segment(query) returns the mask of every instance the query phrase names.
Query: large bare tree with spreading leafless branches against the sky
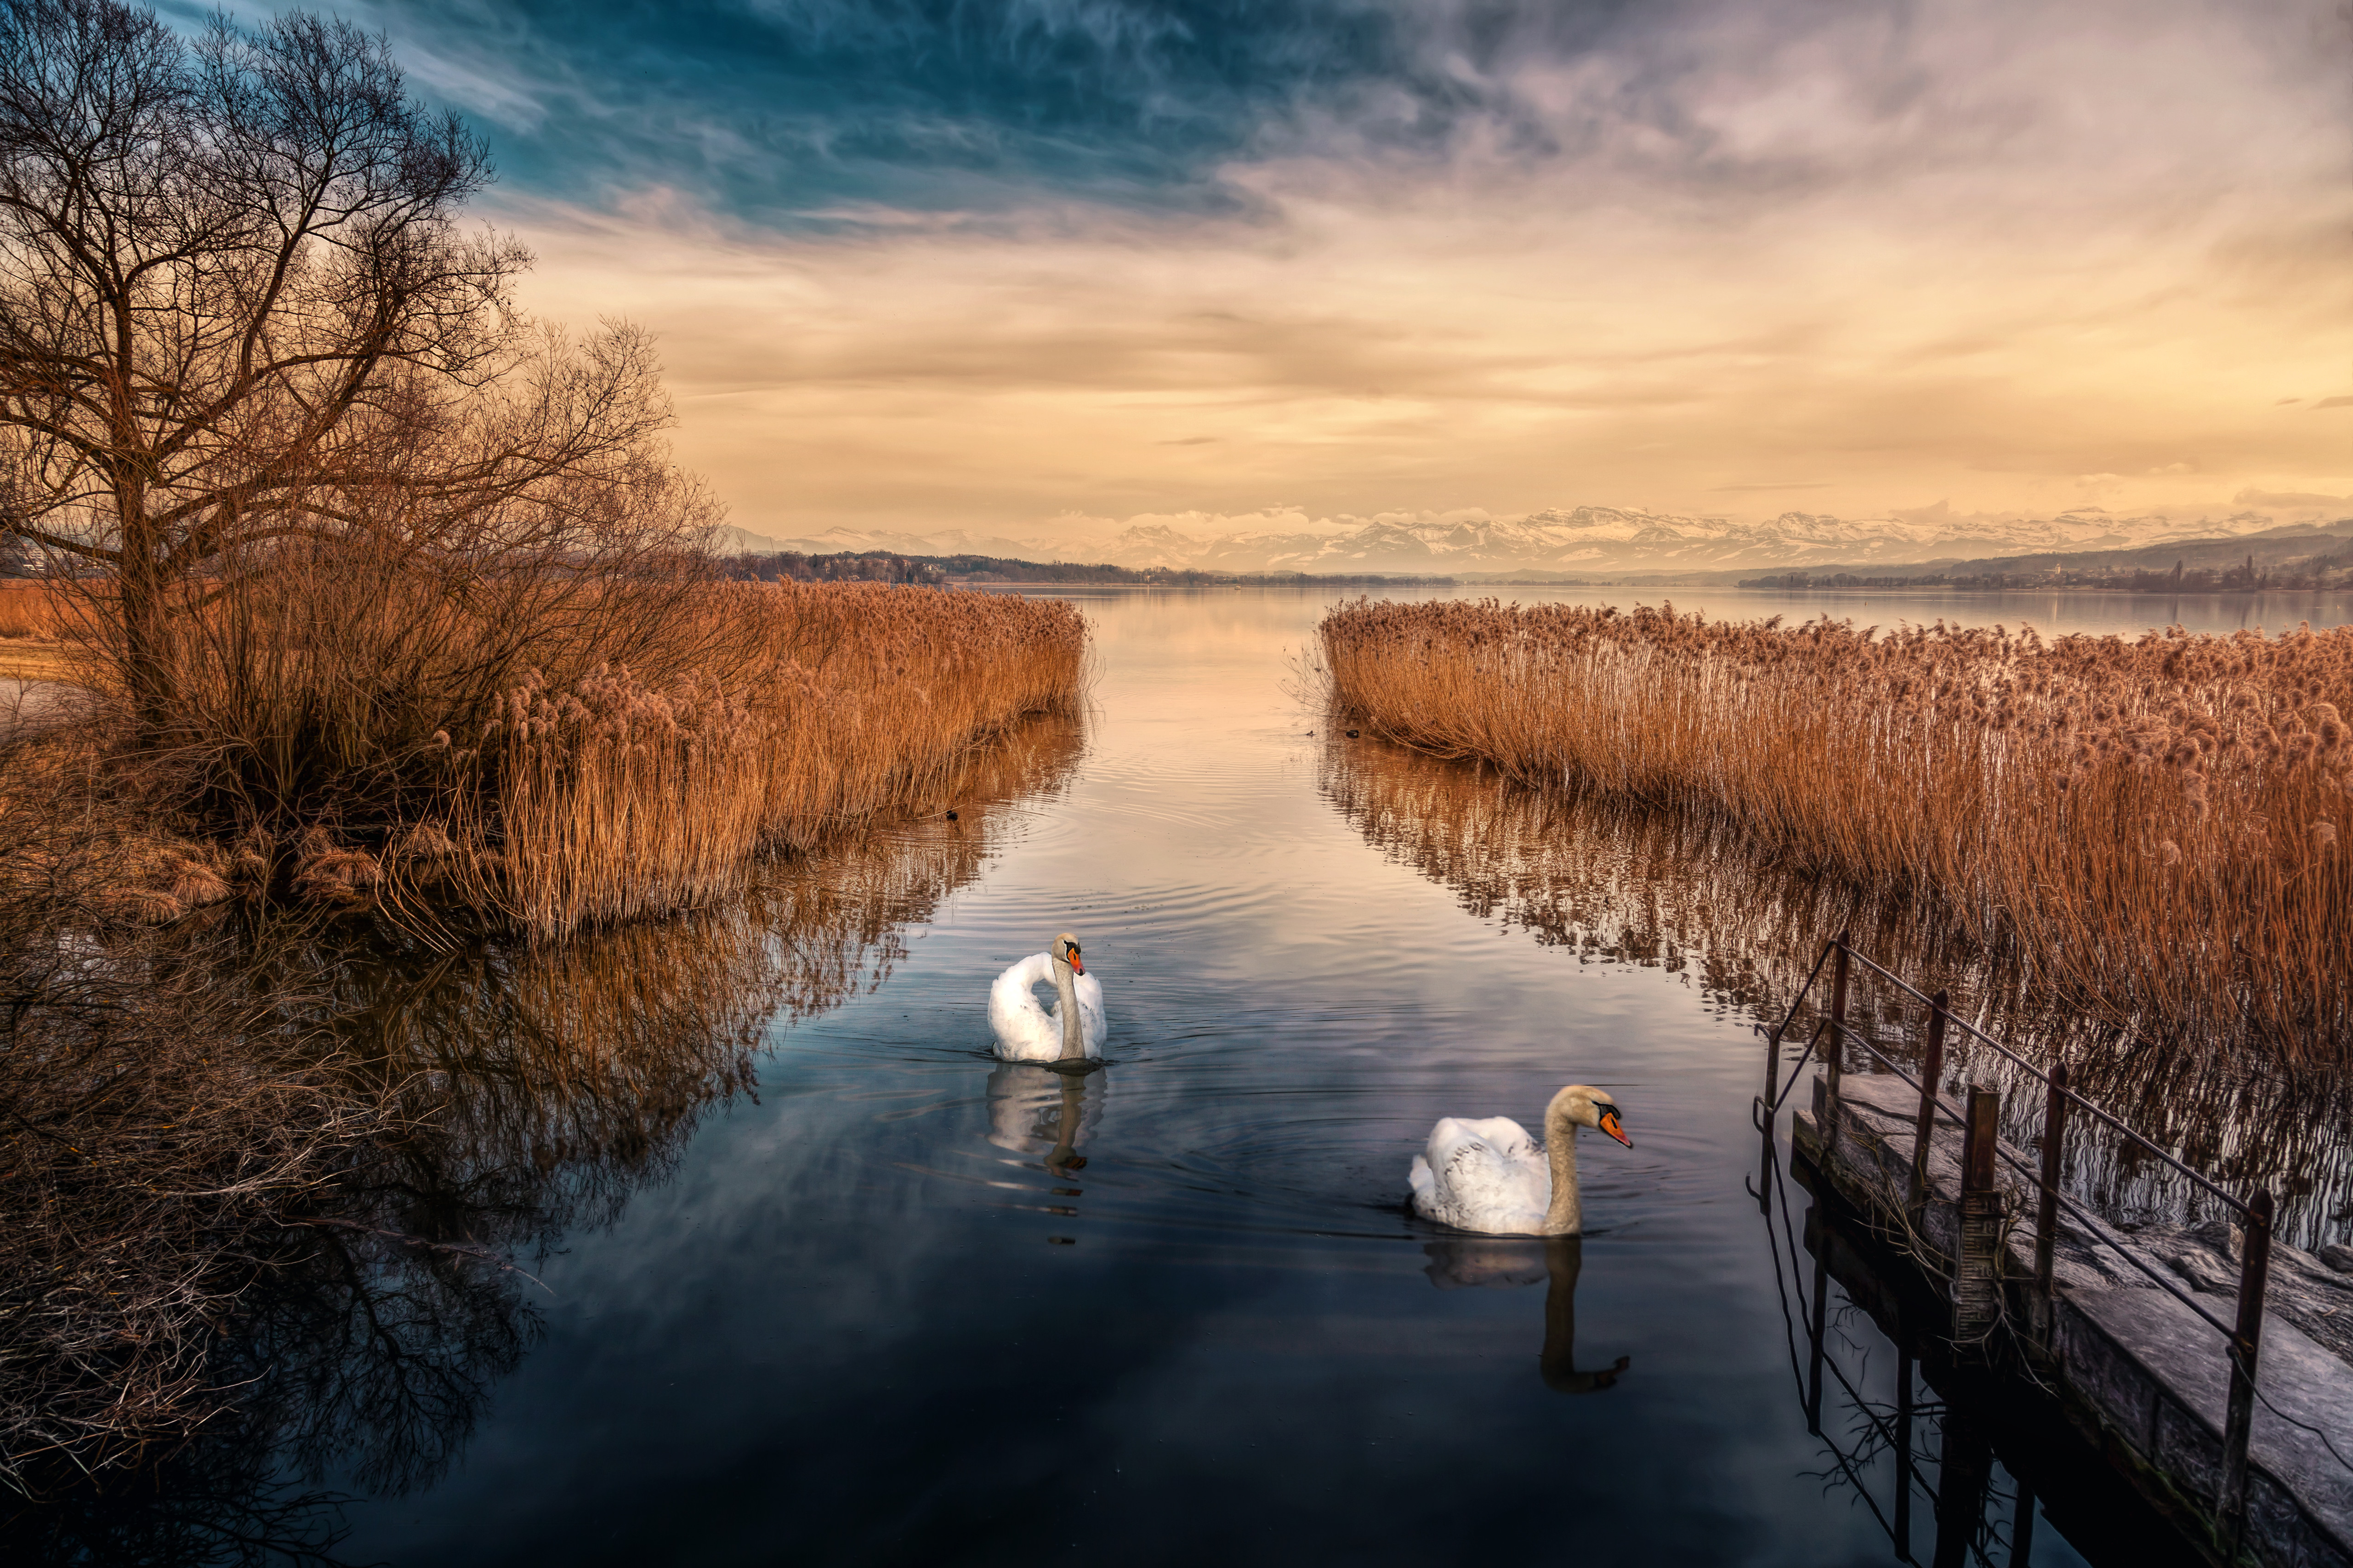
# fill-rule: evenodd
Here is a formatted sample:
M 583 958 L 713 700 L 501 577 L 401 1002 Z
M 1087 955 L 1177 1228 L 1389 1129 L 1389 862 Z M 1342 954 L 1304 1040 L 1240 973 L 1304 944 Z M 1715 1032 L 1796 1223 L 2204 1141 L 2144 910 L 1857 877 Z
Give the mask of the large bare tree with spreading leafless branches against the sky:
M 384 38 L 289 12 L 184 40 L 115 0 L 0 16 L 0 534 L 101 585 L 151 736 L 167 621 L 273 541 L 544 555 L 701 522 L 649 447 L 649 346 L 520 317 L 527 252 L 456 221 L 487 153 Z

